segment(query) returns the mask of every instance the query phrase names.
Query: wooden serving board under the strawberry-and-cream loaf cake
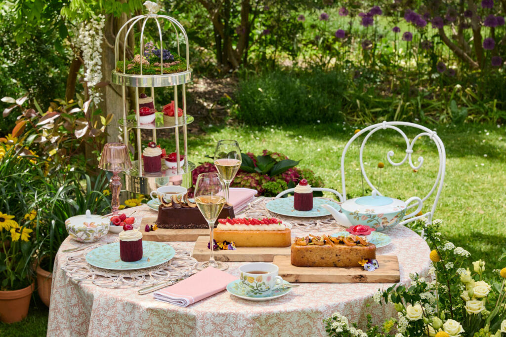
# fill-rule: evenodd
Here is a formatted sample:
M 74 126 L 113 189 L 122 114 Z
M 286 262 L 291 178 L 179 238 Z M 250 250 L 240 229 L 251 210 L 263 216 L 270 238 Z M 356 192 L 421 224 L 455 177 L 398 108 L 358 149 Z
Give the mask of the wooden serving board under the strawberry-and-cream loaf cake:
M 197 261 L 209 260 L 209 236 L 199 236 L 192 256 Z M 288 247 L 237 247 L 235 251 L 215 251 L 214 257 L 217 261 L 236 261 L 236 262 L 272 262 L 275 255 L 287 255 L 290 260 L 291 248 Z

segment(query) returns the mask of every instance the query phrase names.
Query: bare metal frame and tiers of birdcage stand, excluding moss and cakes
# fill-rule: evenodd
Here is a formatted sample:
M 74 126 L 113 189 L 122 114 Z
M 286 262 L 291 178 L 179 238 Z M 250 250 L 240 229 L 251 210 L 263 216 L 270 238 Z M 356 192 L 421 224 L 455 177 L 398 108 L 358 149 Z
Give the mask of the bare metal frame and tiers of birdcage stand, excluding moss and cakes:
M 126 62 L 123 62 L 122 69 L 118 69 L 117 64 L 118 61 L 125 60 L 126 58 L 126 45 L 128 44 L 129 36 L 140 36 L 139 44 L 136 45 L 135 51 L 140 55 L 144 55 L 144 43 L 145 43 L 145 32 L 144 29 L 147 23 L 155 23 L 159 35 L 159 48 L 163 50 L 164 44 L 162 39 L 161 27 L 171 26 L 176 35 L 177 41 L 177 52 L 180 54 L 180 37 L 184 39 L 184 43 L 186 44 L 186 70 L 178 73 L 166 74 L 163 73 L 163 68 L 160 67 L 160 74 L 157 75 L 144 75 L 143 74 L 143 65 L 140 63 L 140 73 L 139 75 L 127 74 L 126 73 Z M 160 25 L 161 23 L 161 25 Z M 142 27 L 140 34 L 139 32 L 135 32 L 135 27 Z M 153 36 L 156 38 L 156 36 Z M 158 42 L 158 41 L 157 41 Z M 120 44 L 122 47 L 120 48 Z M 129 147 L 129 137 L 128 132 L 129 129 L 135 130 L 137 132 L 137 146 L 134 147 L 133 155 L 134 160 L 132 162 L 133 168 L 125 171 L 125 188 L 134 193 L 147 195 L 150 194 L 152 190 L 156 190 L 156 188 L 164 185 L 182 185 L 184 187 L 189 188 L 191 186 L 191 171 L 195 168 L 195 164 L 188 161 L 188 145 L 187 145 L 187 125 L 193 122 L 194 118 L 190 115 L 186 114 L 186 83 L 192 81 L 192 69 L 189 65 L 189 53 L 188 53 L 188 36 L 186 34 L 183 26 L 174 18 L 158 15 L 150 11 L 147 15 L 139 15 L 136 16 L 129 21 L 127 21 L 120 29 L 118 34 L 116 35 L 115 40 L 115 69 L 112 71 L 112 82 L 114 84 L 121 85 L 121 95 L 123 102 L 123 118 L 119 120 L 119 125 L 123 127 L 123 138 L 125 145 L 128 149 Z M 121 53 L 122 52 L 122 53 Z M 136 53 L 137 54 L 137 53 Z M 122 58 L 120 59 L 120 57 Z M 162 60 L 163 53 L 160 53 L 160 63 L 163 64 Z M 182 110 L 183 117 L 182 122 L 178 123 L 178 118 L 175 118 L 174 122 L 170 122 L 164 120 L 163 123 L 150 123 L 150 124 L 141 124 L 139 122 L 139 88 L 145 88 L 146 93 L 150 91 L 151 98 L 153 99 L 153 104 L 156 104 L 155 100 L 155 88 L 161 87 L 173 87 L 174 90 L 174 105 L 175 105 L 175 116 L 178 114 L 178 107 L 180 106 L 180 100 L 178 98 L 178 91 L 181 90 L 182 97 Z M 128 106 L 128 90 L 126 87 L 135 88 L 135 104 L 133 105 L 133 109 L 135 113 L 129 114 L 129 106 Z M 142 90 L 141 90 L 142 91 Z M 163 102 L 160 102 L 163 104 Z M 155 106 L 156 107 L 156 106 Z M 149 173 L 145 172 L 143 169 L 142 162 L 142 146 L 141 146 L 141 130 L 142 129 L 150 129 L 152 130 L 152 141 L 157 143 L 156 139 L 156 131 L 159 129 L 174 129 L 175 133 L 175 152 L 177 154 L 176 158 L 180 158 L 181 148 L 180 148 L 180 133 L 183 131 L 183 154 L 185 158 L 185 162 L 183 165 L 180 165 L 179 160 L 176 161 L 177 168 L 171 169 L 165 165 L 165 160 L 162 159 L 162 168 L 160 172 Z M 167 153 L 172 152 L 167 149 Z

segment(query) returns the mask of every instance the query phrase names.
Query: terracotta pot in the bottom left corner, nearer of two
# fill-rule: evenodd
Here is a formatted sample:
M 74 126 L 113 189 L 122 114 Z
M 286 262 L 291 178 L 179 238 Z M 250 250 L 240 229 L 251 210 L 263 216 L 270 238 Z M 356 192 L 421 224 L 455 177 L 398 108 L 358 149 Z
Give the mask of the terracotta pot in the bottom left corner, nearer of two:
M 0 292 L 0 321 L 19 322 L 28 315 L 34 283 L 20 290 Z

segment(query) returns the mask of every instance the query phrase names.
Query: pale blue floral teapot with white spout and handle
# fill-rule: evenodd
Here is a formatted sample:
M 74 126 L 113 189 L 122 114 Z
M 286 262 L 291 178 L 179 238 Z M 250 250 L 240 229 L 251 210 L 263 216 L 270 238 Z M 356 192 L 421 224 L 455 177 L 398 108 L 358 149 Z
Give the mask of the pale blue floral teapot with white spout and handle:
M 406 215 L 407 205 L 416 201 L 418 207 L 412 213 Z M 384 231 L 399 224 L 402 219 L 410 218 L 417 214 L 423 207 L 423 202 L 418 197 L 412 197 L 403 202 L 378 195 L 376 190 L 371 196 L 354 198 L 341 204 L 341 212 L 329 205 L 321 205 L 330 212 L 334 219 L 342 226 L 367 225 L 377 231 Z

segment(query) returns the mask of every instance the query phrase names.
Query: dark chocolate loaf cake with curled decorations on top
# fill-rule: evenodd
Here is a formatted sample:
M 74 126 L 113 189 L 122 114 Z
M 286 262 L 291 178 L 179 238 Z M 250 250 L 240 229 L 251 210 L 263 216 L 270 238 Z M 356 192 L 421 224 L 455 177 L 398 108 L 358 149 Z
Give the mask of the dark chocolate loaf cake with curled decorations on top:
M 158 206 L 158 218 L 156 219 L 158 228 L 209 228 L 197 205 L 190 202 L 188 194 L 179 198 L 174 195 L 170 202 L 158 199 L 161 202 Z M 227 217 L 235 217 L 234 208 L 229 205 L 223 207 L 218 219 L 226 219 Z

